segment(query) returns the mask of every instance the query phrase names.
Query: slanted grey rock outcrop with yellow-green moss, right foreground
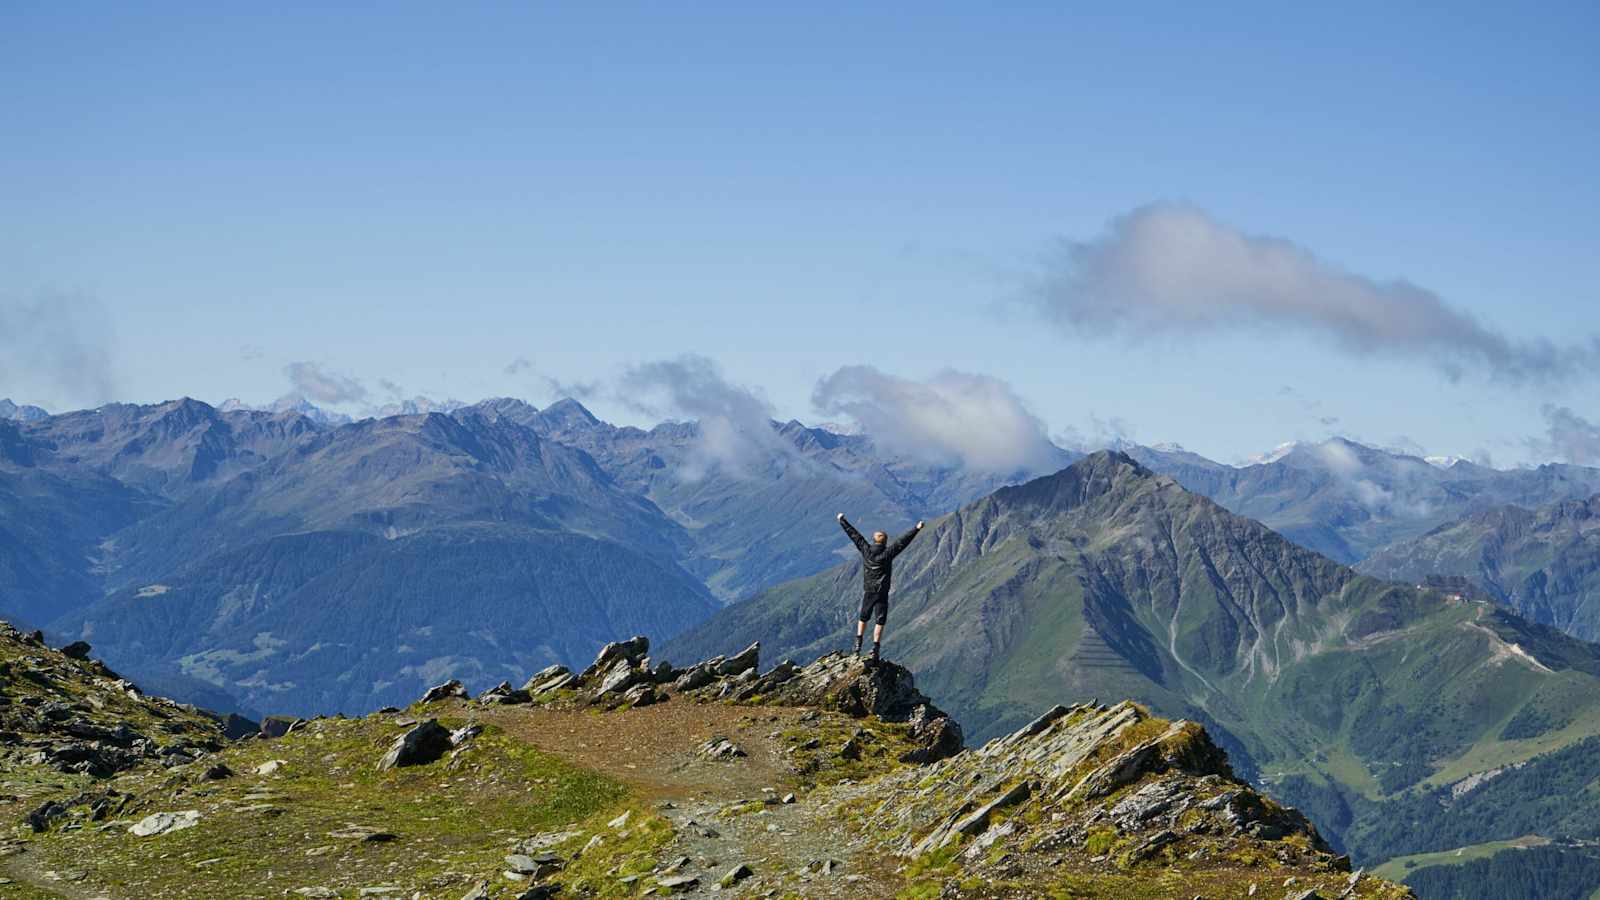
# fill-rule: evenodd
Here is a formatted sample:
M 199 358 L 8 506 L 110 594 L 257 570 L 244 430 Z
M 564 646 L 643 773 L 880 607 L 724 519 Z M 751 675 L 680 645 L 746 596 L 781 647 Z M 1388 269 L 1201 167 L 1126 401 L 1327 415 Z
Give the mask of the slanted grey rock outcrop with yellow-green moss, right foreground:
M 1408 895 L 1352 873 L 1304 815 L 1238 780 L 1205 729 L 1131 701 L 1056 706 L 978 749 L 843 794 L 834 809 L 878 836 L 886 855 L 957 863 L 984 879 L 974 897 L 1024 895 L 1062 868 L 1106 890 L 1142 876 L 1203 897 L 1254 897 L 1269 884 L 1299 886 L 1266 894 L 1294 898 Z M 1256 871 L 1267 862 L 1294 874 Z

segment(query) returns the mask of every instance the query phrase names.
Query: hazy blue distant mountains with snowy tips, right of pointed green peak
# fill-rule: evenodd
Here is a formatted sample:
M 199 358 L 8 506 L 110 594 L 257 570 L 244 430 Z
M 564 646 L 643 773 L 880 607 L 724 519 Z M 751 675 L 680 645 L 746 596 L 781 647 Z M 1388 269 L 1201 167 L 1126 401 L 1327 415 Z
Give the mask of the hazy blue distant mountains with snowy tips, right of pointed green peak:
M 1122 450 L 1186 488 L 1344 564 L 1470 512 L 1542 506 L 1600 492 L 1600 469 L 1589 466 L 1491 469 L 1467 460 L 1429 461 L 1342 437 L 1288 444 L 1246 466 L 1226 466 L 1171 445 Z

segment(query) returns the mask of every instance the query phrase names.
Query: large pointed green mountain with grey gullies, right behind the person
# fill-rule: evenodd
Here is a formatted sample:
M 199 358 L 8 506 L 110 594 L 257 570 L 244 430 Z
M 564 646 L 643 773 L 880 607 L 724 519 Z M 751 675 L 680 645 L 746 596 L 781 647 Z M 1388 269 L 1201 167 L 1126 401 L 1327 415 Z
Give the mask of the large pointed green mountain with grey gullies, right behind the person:
M 846 647 L 859 577 L 778 586 L 666 653 Z M 978 740 L 1061 697 L 1203 721 L 1360 863 L 1600 834 L 1600 649 L 1358 575 L 1122 453 L 931 522 L 888 649 Z

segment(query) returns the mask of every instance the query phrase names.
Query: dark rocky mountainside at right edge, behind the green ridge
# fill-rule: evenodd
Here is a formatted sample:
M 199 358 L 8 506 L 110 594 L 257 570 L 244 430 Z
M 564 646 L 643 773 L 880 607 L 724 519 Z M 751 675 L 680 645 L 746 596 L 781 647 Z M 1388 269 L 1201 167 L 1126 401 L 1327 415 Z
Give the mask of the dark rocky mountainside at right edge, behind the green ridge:
M 1600 639 L 1600 495 L 1499 506 L 1390 544 L 1358 565 L 1381 578 L 1459 575 L 1517 613 Z

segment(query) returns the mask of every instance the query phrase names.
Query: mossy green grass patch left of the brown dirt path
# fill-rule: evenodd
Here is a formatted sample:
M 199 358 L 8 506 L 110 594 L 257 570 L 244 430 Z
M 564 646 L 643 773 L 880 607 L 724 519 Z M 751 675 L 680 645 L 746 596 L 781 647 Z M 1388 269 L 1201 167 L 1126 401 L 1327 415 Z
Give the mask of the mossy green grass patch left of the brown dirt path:
M 285 738 L 229 748 L 198 765 L 130 773 L 114 781 L 139 796 L 126 822 L 106 831 L 85 826 L 38 836 L 29 852 L 40 862 L 85 868 L 88 884 L 130 895 L 214 897 L 226 887 L 235 897 L 282 897 L 285 889 L 307 886 L 354 894 L 379 884 L 461 894 L 478 878 L 498 878 L 515 839 L 570 828 L 626 799 L 616 781 L 493 727 L 454 759 L 378 772 L 379 756 L 402 730 L 387 716 L 325 719 Z M 283 772 L 254 775 L 269 759 L 283 759 Z M 237 775 L 198 781 L 214 761 Z M 246 796 L 253 791 L 270 796 Z M 246 810 L 259 804 L 270 809 Z M 128 823 L 150 812 L 186 809 L 200 810 L 200 825 L 152 838 L 126 833 Z M 350 825 L 398 838 L 328 836 Z M 309 855 L 320 847 L 326 850 Z

